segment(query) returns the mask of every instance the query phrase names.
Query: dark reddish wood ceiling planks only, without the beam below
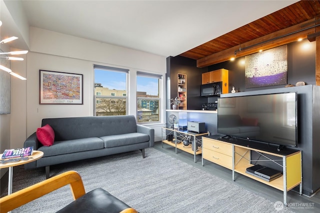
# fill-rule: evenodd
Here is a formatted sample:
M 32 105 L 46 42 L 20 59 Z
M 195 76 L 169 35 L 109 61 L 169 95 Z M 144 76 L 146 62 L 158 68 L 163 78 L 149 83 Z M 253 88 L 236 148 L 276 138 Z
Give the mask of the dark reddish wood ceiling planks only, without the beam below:
M 208 52 L 206 54 L 208 56 L 233 46 L 239 46 L 240 44 L 242 46 L 243 43 L 249 40 L 301 23 L 316 15 L 320 15 L 320 0 L 297 1 L 294 4 L 214 38 L 206 42 L 206 45 L 201 44 L 193 48 L 192 53 L 196 55 L 190 56 L 190 58 L 200 59 L 198 55 L 201 55 L 203 50 Z M 310 23 L 308 26 L 311 24 L 314 25 L 315 23 Z M 196 53 L 197 51 L 199 51 L 199 54 Z M 192 53 L 188 55 L 192 55 Z

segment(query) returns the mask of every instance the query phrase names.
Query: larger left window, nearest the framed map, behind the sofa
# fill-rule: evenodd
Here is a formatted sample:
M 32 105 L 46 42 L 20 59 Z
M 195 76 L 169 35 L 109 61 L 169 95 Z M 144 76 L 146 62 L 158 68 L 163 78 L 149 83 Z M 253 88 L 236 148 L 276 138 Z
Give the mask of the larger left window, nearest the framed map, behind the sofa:
M 126 82 L 128 69 L 94 65 L 94 114 L 127 114 Z

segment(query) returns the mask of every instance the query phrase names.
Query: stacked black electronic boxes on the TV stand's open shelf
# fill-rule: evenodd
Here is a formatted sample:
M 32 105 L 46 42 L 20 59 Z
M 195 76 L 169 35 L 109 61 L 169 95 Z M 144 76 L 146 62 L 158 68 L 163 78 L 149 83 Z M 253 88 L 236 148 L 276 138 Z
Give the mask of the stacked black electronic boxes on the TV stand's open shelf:
M 259 164 L 246 168 L 245 173 L 251 174 L 268 182 L 281 176 L 280 171 Z

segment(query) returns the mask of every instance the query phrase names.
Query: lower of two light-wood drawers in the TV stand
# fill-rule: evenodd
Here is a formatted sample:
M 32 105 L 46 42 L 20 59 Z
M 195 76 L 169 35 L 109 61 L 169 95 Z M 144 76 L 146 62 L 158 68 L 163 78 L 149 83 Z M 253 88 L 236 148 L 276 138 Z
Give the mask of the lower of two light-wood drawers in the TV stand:
M 207 159 L 216 164 L 222 165 L 228 169 L 232 169 L 232 157 L 222 154 L 220 152 L 212 151 L 207 148 L 203 148 L 202 156 L 204 159 Z

